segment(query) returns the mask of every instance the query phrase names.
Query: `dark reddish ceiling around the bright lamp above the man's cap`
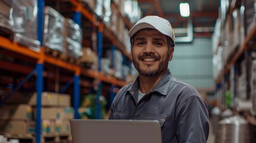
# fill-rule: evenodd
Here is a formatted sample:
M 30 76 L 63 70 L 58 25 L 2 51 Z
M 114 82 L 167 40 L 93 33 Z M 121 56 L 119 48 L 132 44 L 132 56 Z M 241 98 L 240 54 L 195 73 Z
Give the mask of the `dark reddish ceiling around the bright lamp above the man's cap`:
M 180 2 L 190 5 L 190 17 L 180 15 Z M 138 0 L 138 4 L 146 15 L 159 15 L 170 21 L 172 27 L 187 27 L 187 20 L 191 20 L 194 33 L 212 33 L 215 21 L 218 18 L 220 1 L 214 0 Z

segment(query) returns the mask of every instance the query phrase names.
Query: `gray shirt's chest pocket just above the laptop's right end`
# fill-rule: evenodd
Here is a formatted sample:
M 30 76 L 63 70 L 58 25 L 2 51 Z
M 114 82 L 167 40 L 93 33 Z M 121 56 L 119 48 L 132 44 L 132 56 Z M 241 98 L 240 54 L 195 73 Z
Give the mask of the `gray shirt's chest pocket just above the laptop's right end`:
M 143 113 L 140 114 L 141 120 L 158 120 L 161 128 L 163 128 L 166 120 L 166 116 L 162 114 L 154 114 L 154 113 Z

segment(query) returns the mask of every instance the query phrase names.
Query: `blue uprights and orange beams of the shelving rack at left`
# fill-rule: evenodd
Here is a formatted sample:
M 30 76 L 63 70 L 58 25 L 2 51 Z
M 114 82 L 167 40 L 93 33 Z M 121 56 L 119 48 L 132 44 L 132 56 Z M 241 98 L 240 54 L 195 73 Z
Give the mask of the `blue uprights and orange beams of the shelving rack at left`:
M 91 21 L 91 23 L 95 23 L 95 17 L 90 11 L 86 10 L 81 2 L 75 1 L 75 0 L 69 0 L 71 4 L 73 4 L 73 7 L 75 7 L 75 11 L 78 14 L 78 20 L 76 22 L 79 23 L 79 14 L 82 14 L 83 17 L 86 17 L 88 20 Z M 117 7 L 117 6 L 116 6 Z M 43 8 L 44 8 L 44 0 L 38 1 L 38 40 L 42 43 L 42 23 L 43 23 Z M 118 9 L 119 10 L 119 9 Z M 119 10 L 120 13 L 120 10 Z M 125 16 L 122 16 L 124 22 L 126 23 L 126 26 L 131 28 L 131 23 L 129 23 L 128 18 Z M 112 41 L 113 46 L 116 46 L 116 48 L 120 49 L 122 53 L 128 57 L 131 60 L 131 54 L 129 54 L 125 50 L 125 46 L 122 45 L 121 42 L 116 40 L 116 37 L 113 36 L 113 33 L 110 32 L 109 29 L 107 29 L 104 26 L 103 22 L 100 22 L 98 25 L 98 36 L 102 38 L 102 35 L 109 38 L 110 41 Z M 66 77 L 62 78 L 63 82 L 69 82 L 69 78 L 73 79 L 73 105 L 75 109 L 75 119 L 78 118 L 78 106 L 79 106 L 79 95 L 80 95 L 80 86 L 86 85 L 86 82 L 84 82 L 83 79 L 81 79 L 82 76 L 91 77 L 92 79 L 97 79 L 101 82 L 109 83 L 111 85 L 111 88 L 114 88 L 115 86 L 122 87 L 126 85 L 127 82 L 123 80 L 118 80 L 113 77 L 107 77 L 104 76 L 99 71 L 95 70 L 89 70 L 84 69 L 76 64 L 71 64 L 66 61 L 60 60 L 56 57 L 53 57 L 52 55 L 45 54 L 44 47 L 41 47 L 39 52 L 33 51 L 32 49 L 29 49 L 25 46 L 18 45 L 16 42 L 10 41 L 10 39 L 4 38 L 3 36 L 0 36 L 0 48 L 5 49 L 8 52 L 8 55 L 15 56 L 18 58 L 23 57 L 29 57 L 32 59 L 32 63 L 35 63 L 35 69 L 31 66 L 24 66 L 18 63 L 11 63 L 8 61 L 0 61 L 0 68 L 7 70 L 7 71 L 15 71 L 17 73 L 23 73 L 23 74 L 33 74 L 36 76 L 36 93 L 37 93 L 37 101 L 36 101 L 36 143 L 41 142 L 41 94 L 44 91 L 43 89 L 43 82 L 44 77 L 50 78 L 47 71 L 44 70 L 44 64 L 51 64 L 56 67 L 61 67 L 63 69 L 69 70 L 73 73 L 73 77 Z M 102 40 L 98 40 L 101 43 L 98 45 L 102 45 Z M 42 46 L 42 45 L 41 45 Z M 98 47 L 102 49 L 103 47 Z M 102 51 L 101 51 L 102 54 Z M 21 56 L 20 56 L 21 55 Z M 26 61 L 26 60 L 24 60 Z M 33 71 L 33 73 L 31 72 Z M 36 74 L 35 74 L 36 73 Z M 102 86 L 101 83 L 99 86 Z M 112 97 L 113 100 L 113 97 Z

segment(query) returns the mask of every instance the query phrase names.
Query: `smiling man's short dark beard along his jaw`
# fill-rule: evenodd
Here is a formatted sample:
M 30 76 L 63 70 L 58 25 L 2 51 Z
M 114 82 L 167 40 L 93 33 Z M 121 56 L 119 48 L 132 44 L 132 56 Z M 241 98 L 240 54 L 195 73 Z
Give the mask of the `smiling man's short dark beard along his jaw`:
M 134 63 L 135 69 L 138 70 L 139 74 L 150 77 L 150 76 L 156 76 L 162 71 L 166 70 L 168 66 L 168 62 L 169 62 L 168 57 L 166 57 L 163 61 L 159 63 L 158 68 L 156 70 L 150 70 L 150 67 L 147 67 L 146 70 L 143 70 L 143 69 L 140 69 L 139 62 L 134 61 L 133 63 Z

